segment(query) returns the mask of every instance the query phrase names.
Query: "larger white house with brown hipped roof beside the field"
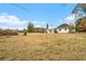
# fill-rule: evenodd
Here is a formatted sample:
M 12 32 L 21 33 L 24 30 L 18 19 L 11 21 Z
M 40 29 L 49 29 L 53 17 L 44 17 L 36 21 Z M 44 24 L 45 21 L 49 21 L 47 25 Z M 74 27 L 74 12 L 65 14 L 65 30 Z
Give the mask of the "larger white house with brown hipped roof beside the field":
M 58 33 L 70 33 L 70 25 L 69 24 L 62 24 L 59 27 L 57 27 Z

